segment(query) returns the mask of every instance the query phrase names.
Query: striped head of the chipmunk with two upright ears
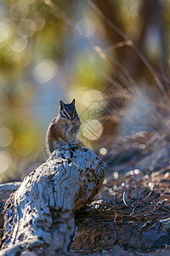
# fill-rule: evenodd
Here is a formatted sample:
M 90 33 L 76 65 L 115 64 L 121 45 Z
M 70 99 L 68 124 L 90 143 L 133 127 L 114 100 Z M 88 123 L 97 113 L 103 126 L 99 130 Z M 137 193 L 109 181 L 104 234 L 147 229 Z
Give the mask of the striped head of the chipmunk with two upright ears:
M 79 119 L 77 109 L 75 107 L 75 98 L 71 103 L 65 104 L 63 101 L 59 101 L 59 115 L 62 119 L 73 121 Z

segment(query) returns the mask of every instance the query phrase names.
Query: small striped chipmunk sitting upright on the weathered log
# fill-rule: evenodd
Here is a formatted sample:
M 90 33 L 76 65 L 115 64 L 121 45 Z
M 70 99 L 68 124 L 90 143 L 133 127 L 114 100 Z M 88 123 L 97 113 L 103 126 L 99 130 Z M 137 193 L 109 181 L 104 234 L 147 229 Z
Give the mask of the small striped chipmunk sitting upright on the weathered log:
M 48 126 L 46 150 L 50 155 L 56 148 L 66 144 L 77 143 L 77 133 L 81 121 L 75 107 L 75 99 L 70 104 L 59 101 L 59 113 Z

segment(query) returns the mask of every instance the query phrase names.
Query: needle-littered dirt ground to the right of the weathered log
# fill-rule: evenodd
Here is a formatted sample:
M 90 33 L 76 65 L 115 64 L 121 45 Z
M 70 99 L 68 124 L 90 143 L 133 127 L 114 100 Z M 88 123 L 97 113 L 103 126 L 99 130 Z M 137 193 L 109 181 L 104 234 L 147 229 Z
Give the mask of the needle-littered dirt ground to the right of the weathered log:
M 110 147 L 99 195 L 76 212 L 71 252 L 170 255 L 169 138 L 139 132 Z

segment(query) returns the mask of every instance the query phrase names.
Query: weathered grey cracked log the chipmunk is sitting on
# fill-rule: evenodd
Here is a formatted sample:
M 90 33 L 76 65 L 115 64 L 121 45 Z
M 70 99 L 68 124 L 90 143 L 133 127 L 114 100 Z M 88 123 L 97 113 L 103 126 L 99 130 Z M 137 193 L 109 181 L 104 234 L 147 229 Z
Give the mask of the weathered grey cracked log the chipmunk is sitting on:
M 54 151 L 6 202 L 1 254 L 67 252 L 76 231 L 73 211 L 94 199 L 104 177 L 105 163 L 89 148 Z

